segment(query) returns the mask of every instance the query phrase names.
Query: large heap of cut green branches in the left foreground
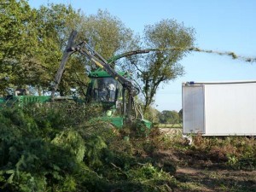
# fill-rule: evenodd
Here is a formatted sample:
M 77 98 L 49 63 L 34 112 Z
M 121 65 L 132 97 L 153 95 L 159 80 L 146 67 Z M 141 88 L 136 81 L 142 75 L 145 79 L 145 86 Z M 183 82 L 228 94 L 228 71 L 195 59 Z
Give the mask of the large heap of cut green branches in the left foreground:
M 145 158 L 157 141 L 91 122 L 97 108 L 49 103 L 0 109 L 3 191 L 169 191 L 175 179 Z M 128 129 L 128 128 L 127 128 Z M 152 141 L 149 141 L 151 140 Z

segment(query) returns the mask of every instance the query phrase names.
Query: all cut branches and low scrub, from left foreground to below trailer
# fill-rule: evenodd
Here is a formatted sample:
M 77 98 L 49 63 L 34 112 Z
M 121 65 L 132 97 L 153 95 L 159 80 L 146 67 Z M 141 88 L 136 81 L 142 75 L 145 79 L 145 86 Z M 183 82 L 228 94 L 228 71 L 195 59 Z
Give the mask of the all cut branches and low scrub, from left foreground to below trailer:
M 171 191 L 184 188 L 168 150 L 232 169 L 255 170 L 255 140 L 247 137 L 166 137 L 153 128 L 118 131 L 97 108 L 51 103 L 0 109 L 0 189 L 3 191 Z M 163 153 L 164 152 L 164 153 Z

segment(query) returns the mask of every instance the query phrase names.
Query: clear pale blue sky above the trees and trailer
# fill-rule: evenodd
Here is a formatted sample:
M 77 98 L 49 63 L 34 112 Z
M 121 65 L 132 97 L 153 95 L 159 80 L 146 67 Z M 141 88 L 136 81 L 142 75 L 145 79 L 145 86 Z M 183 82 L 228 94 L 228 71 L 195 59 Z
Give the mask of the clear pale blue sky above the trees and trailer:
M 126 27 L 142 34 L 145 25 L 163 19 L 174 19 L 195 28 L 195 45 L 201 49 L 233 51 L 237 55 L 256 57 L 256 1 L 254 0 L 29 0 L 32 7 L 40 4 L 71 4 L 85 15 L 98 9 L 118 17 Z M 256 79 L 256 63 L 232 60 L 228 56 L 191 53 L 180 63 L 185 75 L 162 84 L 154 107 L 162 110 L 182 108 L 182 83 L 186 81 L 236 81 Z

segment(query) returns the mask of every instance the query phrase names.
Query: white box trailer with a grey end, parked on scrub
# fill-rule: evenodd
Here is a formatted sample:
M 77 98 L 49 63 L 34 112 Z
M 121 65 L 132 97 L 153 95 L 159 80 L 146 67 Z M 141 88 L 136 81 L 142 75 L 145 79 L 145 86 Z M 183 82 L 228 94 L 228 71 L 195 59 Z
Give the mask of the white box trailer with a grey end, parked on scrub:
M 256 81 L 183 83 L 183 134 L 256 136 Z

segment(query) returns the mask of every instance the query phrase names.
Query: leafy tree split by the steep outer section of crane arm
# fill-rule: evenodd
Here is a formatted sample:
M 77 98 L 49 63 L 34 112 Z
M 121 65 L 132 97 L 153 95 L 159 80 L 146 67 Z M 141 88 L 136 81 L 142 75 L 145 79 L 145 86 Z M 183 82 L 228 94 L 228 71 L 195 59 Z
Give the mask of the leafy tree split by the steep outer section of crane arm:
M 41 87 L 42 90 L 49 90 L 49 83 L 54 80 L 61 61 L 62 51 L 67 44 L 69 32 L 73 28 L 77 29 L 79 27 L 79 20 L 82 20 L 83 15 L 79 11 L 75 11 L 71 6 L 65 6 L 64 4 L 41 6 L 37 13 L 40 50 L 35 55 L 45 69 L 38 87 Z M 73 68 L 76 69 L 75 72 Z M 68 61 L 66 73 L 61 79 L 59 90 L 62 96 L 70 94 L 70 88 L 76 86 L 77 79 L 83 79 L 82 82 L 84 83 L 84 67 L 74 57 Z

